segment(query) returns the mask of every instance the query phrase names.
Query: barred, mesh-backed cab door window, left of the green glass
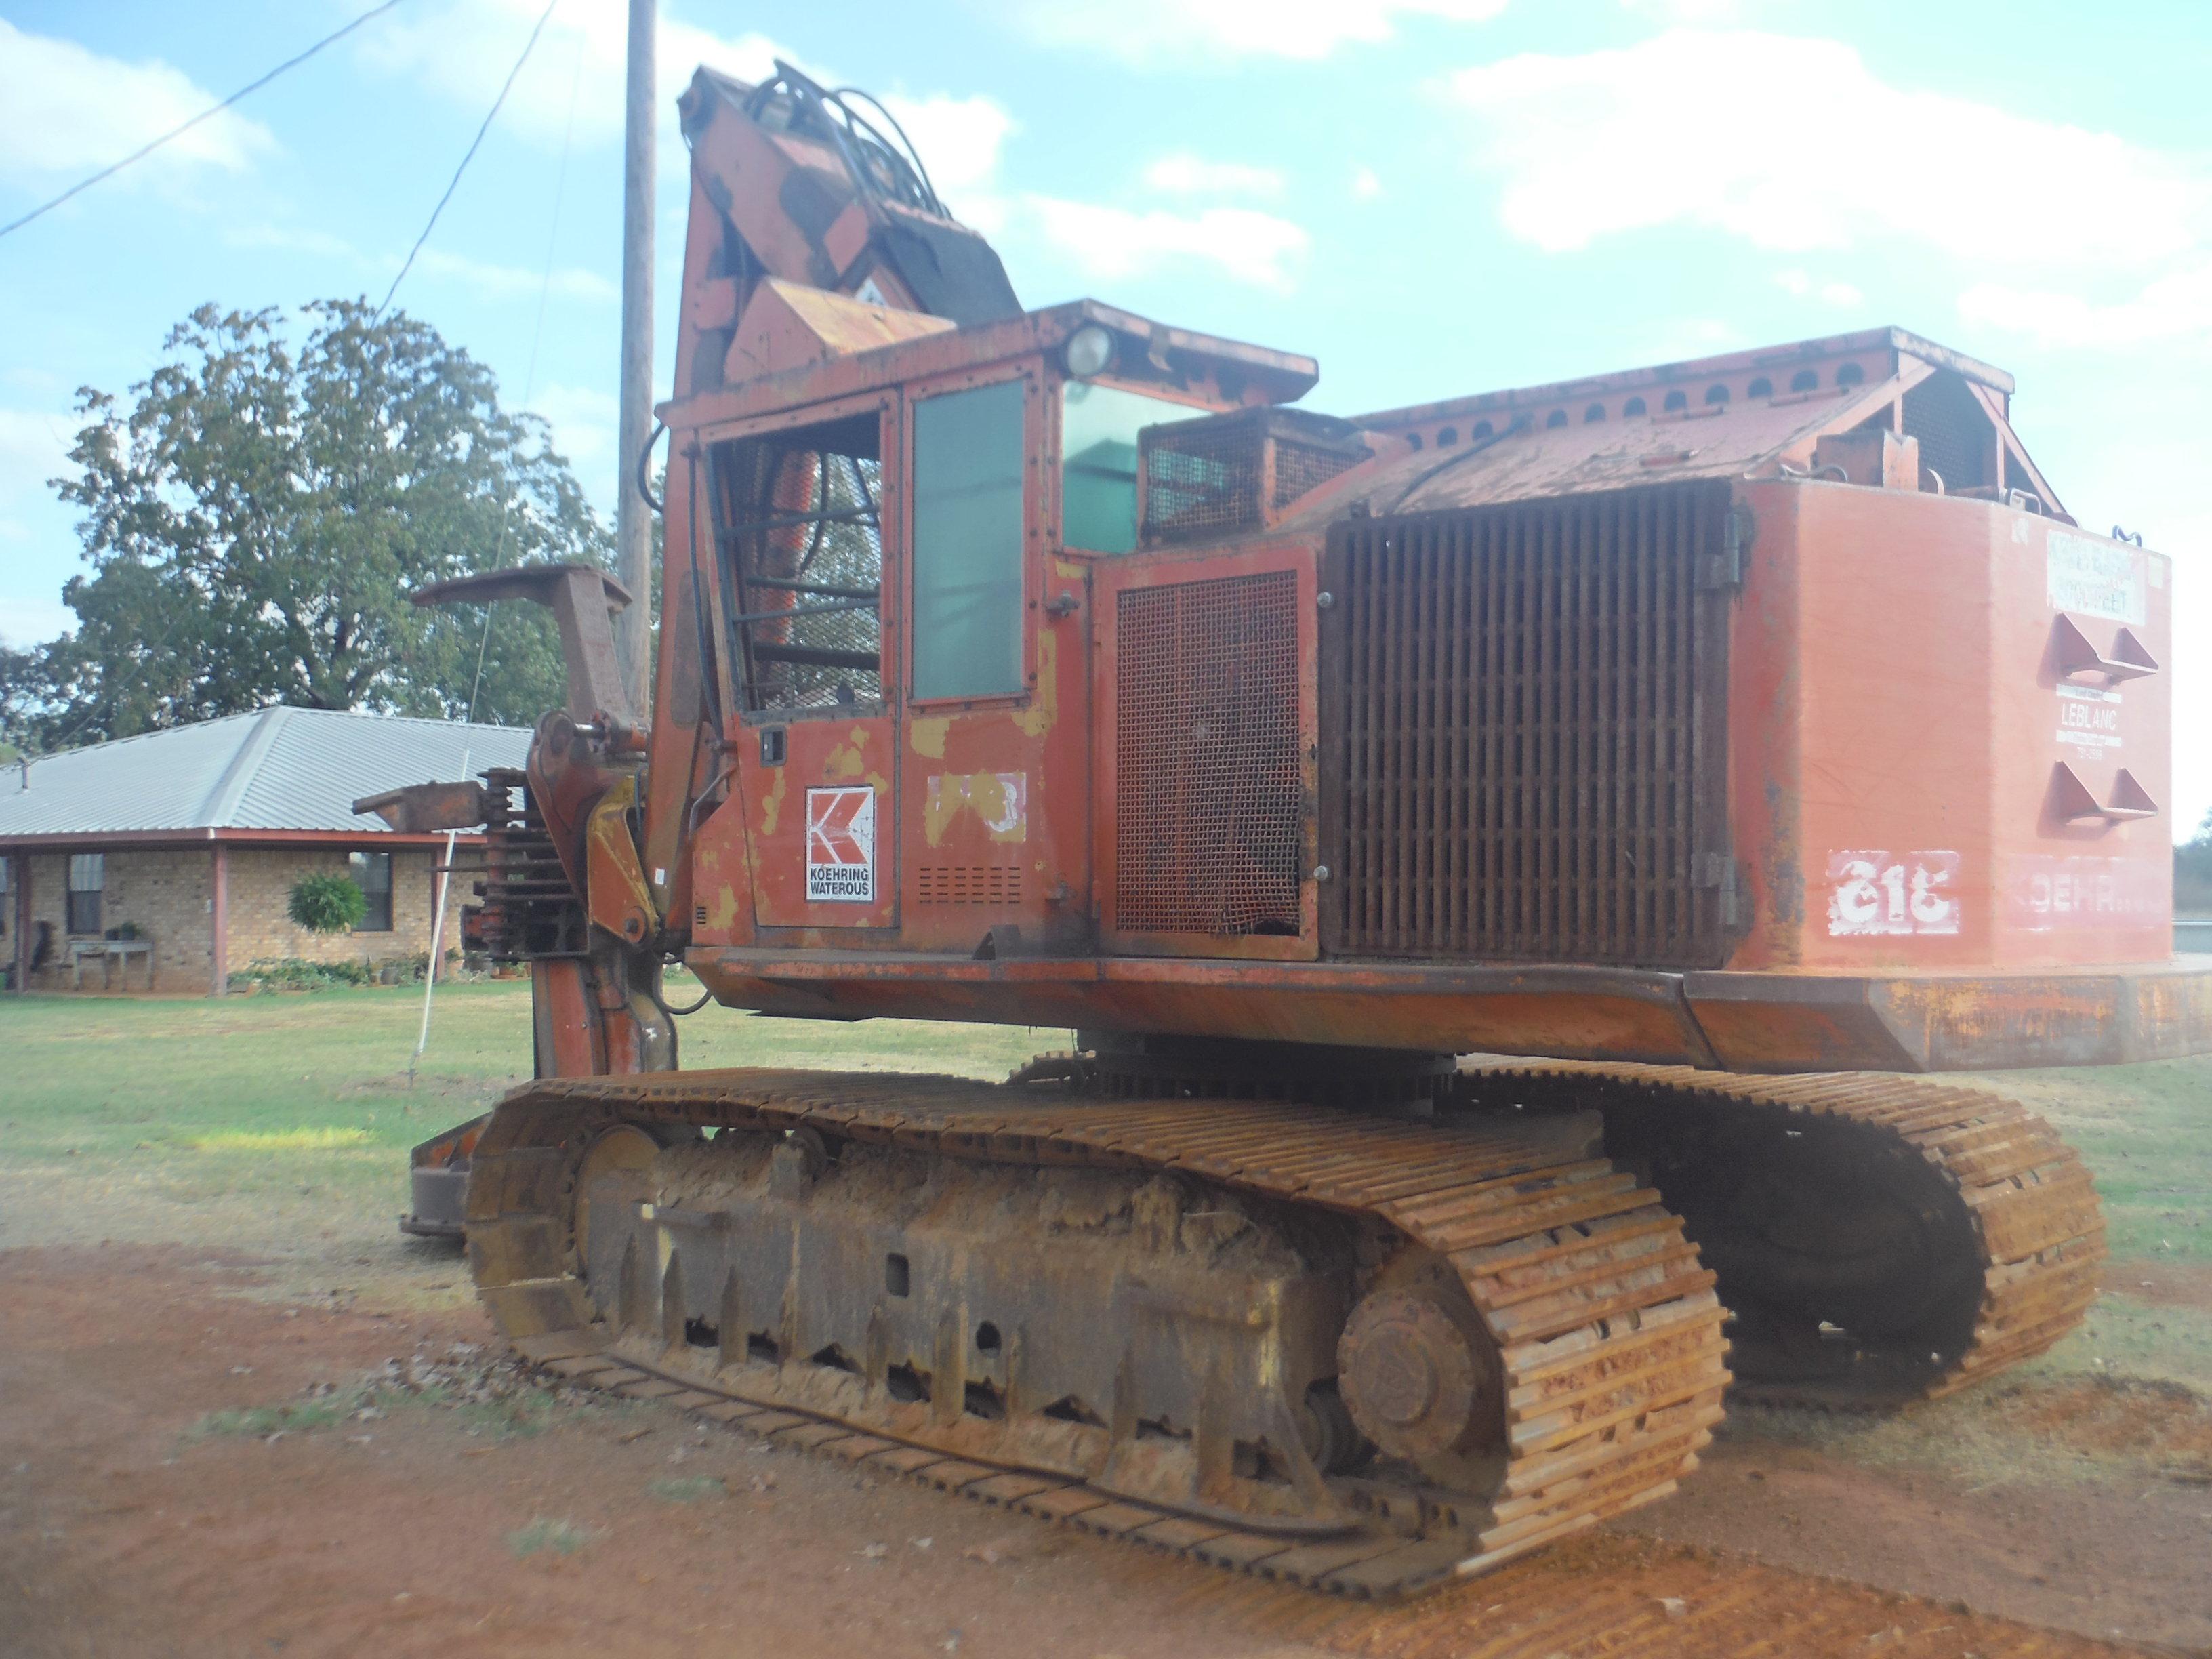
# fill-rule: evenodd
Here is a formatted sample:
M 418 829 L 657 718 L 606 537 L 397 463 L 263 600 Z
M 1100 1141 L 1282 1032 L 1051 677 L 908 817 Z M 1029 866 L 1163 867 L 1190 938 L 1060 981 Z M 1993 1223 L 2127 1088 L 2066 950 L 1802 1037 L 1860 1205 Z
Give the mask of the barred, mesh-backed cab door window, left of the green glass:
M 739 703 L 880 703 L 878 416 L 723 442 L 712 469 Z

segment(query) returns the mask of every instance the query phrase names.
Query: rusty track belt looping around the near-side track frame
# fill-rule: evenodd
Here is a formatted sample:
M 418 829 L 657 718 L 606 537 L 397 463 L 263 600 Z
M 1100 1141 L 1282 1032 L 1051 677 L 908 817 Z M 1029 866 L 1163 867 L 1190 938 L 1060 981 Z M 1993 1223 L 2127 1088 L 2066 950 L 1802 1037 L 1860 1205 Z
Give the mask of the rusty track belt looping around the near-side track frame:
M 1329 1535 L 1223 1524 L 1071 1480 L 779 1409 L 774 1367 L 701 1376 L 641 1360 L 577 1276 L 573 1183 L 604 1126 L 814 1128 L 1015 1166 L 1179 1172 L 1385 1225 L 1449 1261 L 1504 1363 L 1504 1462 L 1484 1493 L 1356 1482 L 1371 1524 Z M 1537 1124 L 1398 1124 L 1208 1099 L 1066 1099 L 945 1077 L 681 1073 L 549 1079 L 493 1113 L 469 1186 L 478 1290 L 515 1347 L 628 1396 L 1221 1566 L 1352 1597 L 1489 1571 L 1674 1489 L 1728 1383 L 1712 1274 L 1650 1190 Z M 1332 1482 L 1334 1484 L 1334 1482 Z

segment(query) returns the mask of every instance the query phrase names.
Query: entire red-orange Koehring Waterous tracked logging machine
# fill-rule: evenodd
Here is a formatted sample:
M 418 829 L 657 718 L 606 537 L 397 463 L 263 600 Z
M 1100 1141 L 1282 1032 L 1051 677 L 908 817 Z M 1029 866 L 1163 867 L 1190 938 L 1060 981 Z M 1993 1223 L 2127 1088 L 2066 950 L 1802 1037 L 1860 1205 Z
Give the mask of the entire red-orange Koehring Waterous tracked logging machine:
M 1338 420 L 1310 358 L 1022 312 L 856 95 L 681 115 L 650 717 L 599 573 L 447 584 L 553 604 L 568 706 L 385 801 L 489 827 L 535 989 L 538 1079 L 418 1168 L 515 1347 L 1396 1595 L 1668 1493 L 1728 1387 L 1885 1407 L 2081 1318 L 2081 1164 L 1911 1073 L 2199 1053 L 2212 960 L 2168 562 L 2008 376 L 1874 330 Z M 686 1073 L 677 960 L 1079 1040 Z

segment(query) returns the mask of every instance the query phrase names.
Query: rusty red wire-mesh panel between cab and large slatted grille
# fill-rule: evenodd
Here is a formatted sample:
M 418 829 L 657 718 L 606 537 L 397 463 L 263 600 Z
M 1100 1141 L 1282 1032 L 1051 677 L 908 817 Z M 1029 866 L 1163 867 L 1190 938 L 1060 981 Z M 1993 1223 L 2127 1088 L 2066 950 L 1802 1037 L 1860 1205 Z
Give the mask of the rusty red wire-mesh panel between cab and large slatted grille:
M 1124 588 L 1115 927 L 1296 933 L 1298 577 Z

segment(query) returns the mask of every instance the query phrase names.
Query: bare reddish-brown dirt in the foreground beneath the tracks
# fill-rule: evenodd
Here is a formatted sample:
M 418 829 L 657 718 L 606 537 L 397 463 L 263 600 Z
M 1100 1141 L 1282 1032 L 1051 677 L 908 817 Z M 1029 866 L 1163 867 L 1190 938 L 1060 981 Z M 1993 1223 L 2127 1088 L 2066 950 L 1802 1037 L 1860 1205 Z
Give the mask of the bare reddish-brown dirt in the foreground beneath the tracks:
M 1363 1610 L 664 1407 L 491 1376 L 473 1307 L 411 1314 L 396 1294 L 434 1301 L 458 1261 L 418 1243 L 374 1254 L 385 1272 L 341 1296 L 294 1294 L 290 1270 L 241 1252 L 0 1256 L 0 1650 L 2097 1650 L 2062 1630 L 2212 1644 L 2212 1484 L 2197 1480 L 2212 1482 L 2212 1418 L 2183 1394 L 2000 1391 L 1978 1416 L 2075 1458 L 2154 1447 L 2166 1473 L 2008 1480 L 1995 1498 L 1922 1467 L 1869 1469 L 1752 1413 L 1683 1493 L 1608 1535 L 1409 1610 Z M 407 1394 L 425 1367 L 431 1391 Z M 380 1376 L 400 1385 L 358 1394 Z

